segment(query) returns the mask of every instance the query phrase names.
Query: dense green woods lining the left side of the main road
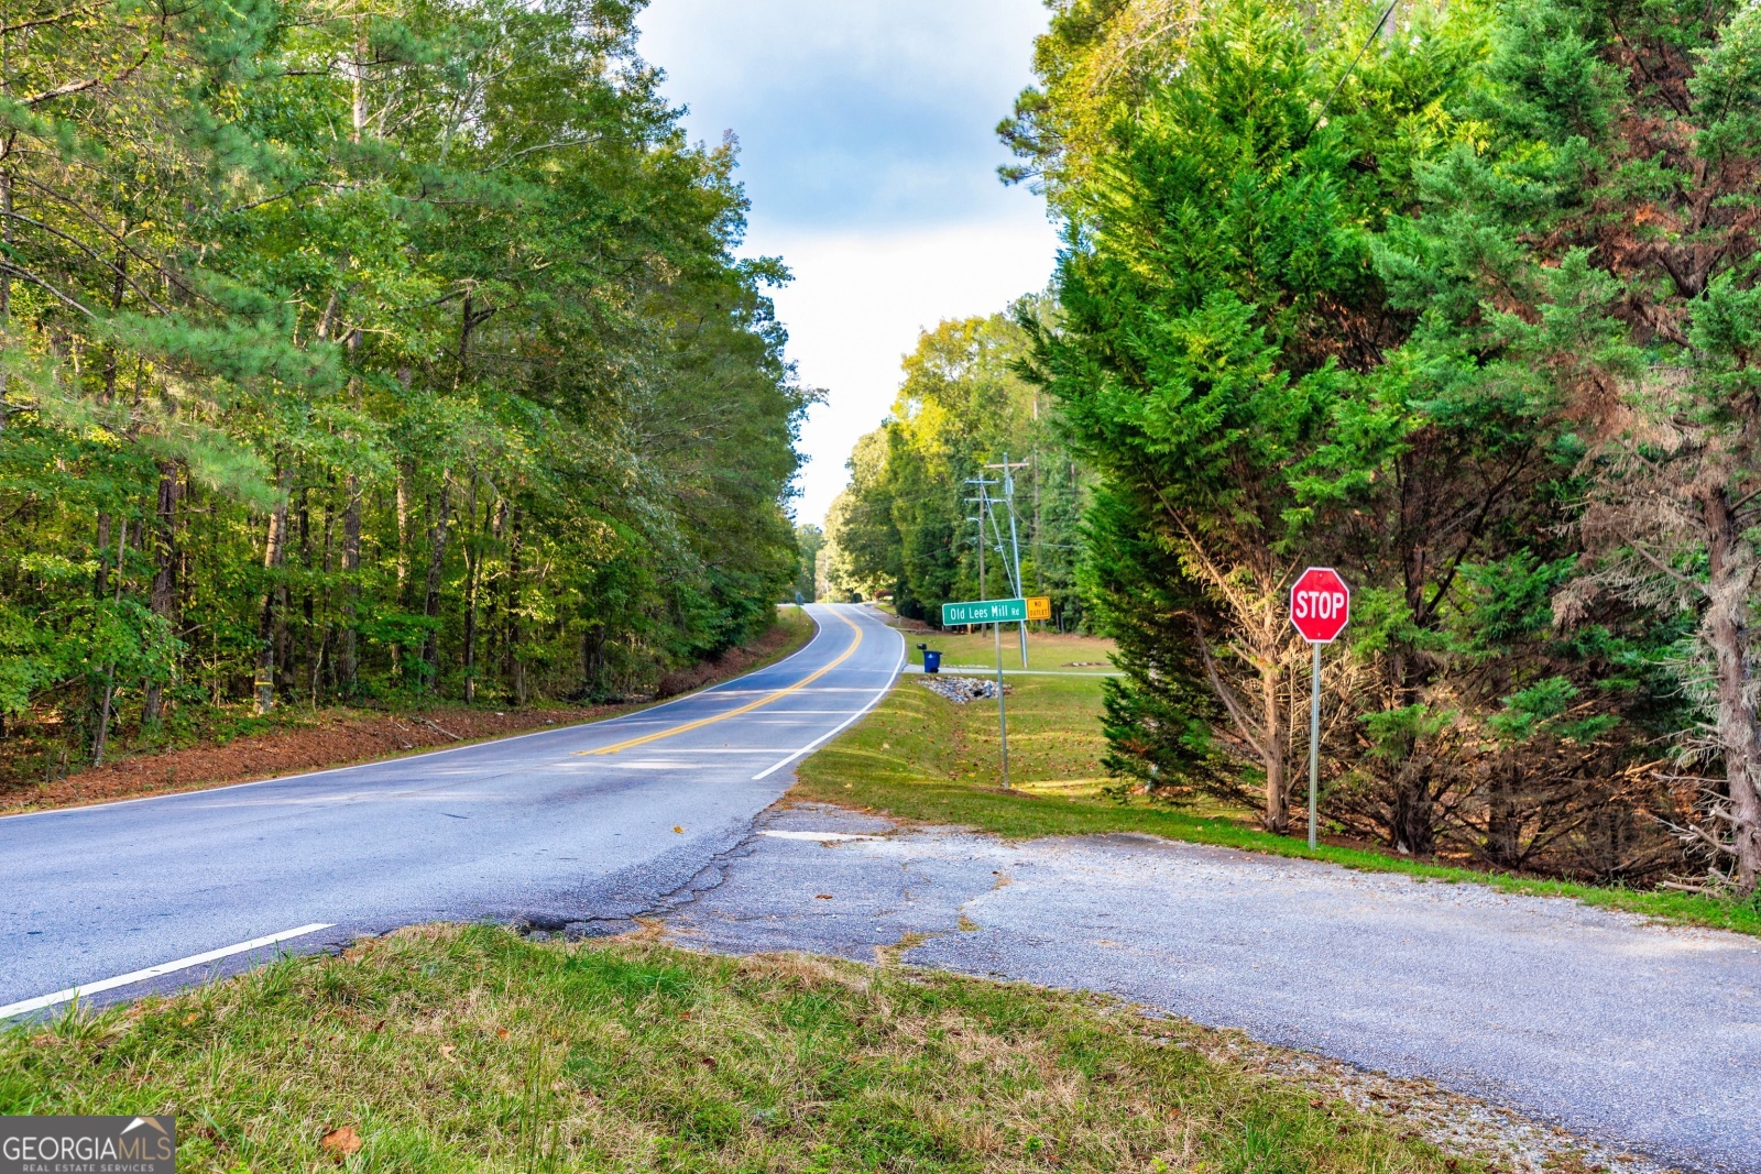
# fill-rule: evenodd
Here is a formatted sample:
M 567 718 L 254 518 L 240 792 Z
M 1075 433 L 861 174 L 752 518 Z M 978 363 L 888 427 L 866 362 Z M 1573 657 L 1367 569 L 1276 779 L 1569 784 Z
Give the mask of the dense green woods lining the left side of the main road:
M 817 393 L 641 4 L 0 9 L 7 732 L 602 699 L 771 623 Z

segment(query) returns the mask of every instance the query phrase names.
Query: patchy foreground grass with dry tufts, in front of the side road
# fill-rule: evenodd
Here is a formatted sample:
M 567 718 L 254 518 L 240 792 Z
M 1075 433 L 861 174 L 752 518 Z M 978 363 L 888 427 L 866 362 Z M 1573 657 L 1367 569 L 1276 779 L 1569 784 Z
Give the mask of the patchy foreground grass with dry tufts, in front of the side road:
M 1095 996 L 421 928 L 0 1033 L 0 1112 L 174 1112 L 183 1170 L 1467 1174 Z

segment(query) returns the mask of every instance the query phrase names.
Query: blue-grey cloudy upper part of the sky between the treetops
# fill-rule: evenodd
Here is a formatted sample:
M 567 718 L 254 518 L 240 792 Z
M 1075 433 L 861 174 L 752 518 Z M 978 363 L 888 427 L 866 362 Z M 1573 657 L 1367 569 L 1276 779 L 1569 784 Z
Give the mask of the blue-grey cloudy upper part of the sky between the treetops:
M 754 224 L 986 216 L 1037 0 L 655 0 L 639 51 L 694 139 L 741 143 Z

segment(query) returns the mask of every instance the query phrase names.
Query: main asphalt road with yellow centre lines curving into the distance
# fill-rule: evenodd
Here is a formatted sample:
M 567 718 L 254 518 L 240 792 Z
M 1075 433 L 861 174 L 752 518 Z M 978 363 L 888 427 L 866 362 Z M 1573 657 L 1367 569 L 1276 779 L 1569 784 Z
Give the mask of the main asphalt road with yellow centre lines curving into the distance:
M 0 818 L 0 1017 L 190 958 L 206 956 L 83 998 L 421 921 L 562 928 L 652 908 L 745 840 L 792 764 L 898 674 L 905 642 L 873 613 L 808 611 L 819 632 L 792 657 L 629 716 Z

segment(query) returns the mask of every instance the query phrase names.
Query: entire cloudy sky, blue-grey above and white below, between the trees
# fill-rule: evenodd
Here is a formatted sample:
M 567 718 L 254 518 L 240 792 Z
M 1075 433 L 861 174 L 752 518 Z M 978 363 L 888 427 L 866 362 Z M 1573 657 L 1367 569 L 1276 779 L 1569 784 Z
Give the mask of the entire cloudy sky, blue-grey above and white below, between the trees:
M 856 438 L 893 405 L 900 359 L 942 319 L 1044 289 L 1057 232 L 1006 188 L 995 127 L 1032 81 L 1041 0 L 652 0 L 641 55 L 692 139 L 740 139 L 743 253 L 775 290 L 807 419 L 798 521 L 821 523 Z

